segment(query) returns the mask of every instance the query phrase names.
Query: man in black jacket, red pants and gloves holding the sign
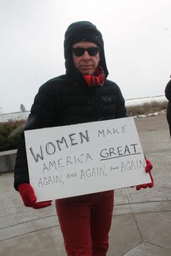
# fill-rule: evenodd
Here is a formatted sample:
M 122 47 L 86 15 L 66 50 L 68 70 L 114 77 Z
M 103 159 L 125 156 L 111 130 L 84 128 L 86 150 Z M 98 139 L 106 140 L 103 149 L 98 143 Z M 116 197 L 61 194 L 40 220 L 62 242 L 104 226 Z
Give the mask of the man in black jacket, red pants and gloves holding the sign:
M 69 25 L 64 38 L 64 58 L 66 74 L 40 87 L 25 130 L 126 117 L 119 87 L 107 80 L 104 41 L 93 23 L 81 21 Z M 150 171 L 152 164 L 146 163 L 146 171 Z M 14 187 L 27 207 L 51 205 L 51 201 L 36 202 L 28 175 L 23 135 L 17 150 Z M 137 189 L 141 187 L 148 187 L 148 184 Z M 113 203 L 113 190 L 56 200 L 68 256 L 107 254 Z

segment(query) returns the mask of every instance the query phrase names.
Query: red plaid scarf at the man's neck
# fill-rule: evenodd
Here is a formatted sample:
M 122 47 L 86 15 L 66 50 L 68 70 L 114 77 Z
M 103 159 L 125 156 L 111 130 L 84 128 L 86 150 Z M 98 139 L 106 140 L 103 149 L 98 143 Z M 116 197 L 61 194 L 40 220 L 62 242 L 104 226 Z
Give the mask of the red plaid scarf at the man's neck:
M 89 87 L 103 86 L 105 81 L 105 72 L 101 67 L 96 69 L 95 75 L 83 75 L 85 82 Z

